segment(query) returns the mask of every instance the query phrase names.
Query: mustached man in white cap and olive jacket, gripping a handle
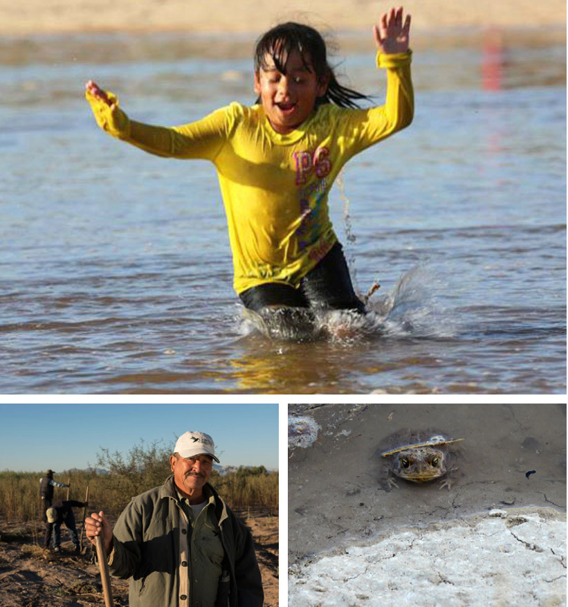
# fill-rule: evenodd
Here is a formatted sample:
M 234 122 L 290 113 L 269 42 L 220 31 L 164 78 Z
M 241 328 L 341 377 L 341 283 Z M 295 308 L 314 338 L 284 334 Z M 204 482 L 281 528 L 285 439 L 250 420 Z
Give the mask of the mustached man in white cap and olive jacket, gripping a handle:
M 130 578 L 130 607 L 262 607 L 253 537 L 209 484 L 213 461 L 212 437 L 188 431 L 170 455 L 172 475 L 133 498 L 114 530 L 102 511 L 86 518 L 111 574 Z

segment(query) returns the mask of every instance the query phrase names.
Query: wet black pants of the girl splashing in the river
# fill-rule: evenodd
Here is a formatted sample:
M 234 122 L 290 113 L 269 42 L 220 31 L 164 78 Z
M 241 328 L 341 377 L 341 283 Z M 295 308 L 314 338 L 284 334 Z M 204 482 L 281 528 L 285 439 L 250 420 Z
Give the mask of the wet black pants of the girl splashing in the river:
M 302 278 L 298 289 L 288 284 L 267 282 L 243 291 L 239 297 L 244 307 L 255 312 L 278 306 L 365 312 L 365 305 L 353 289 L 342 246 L 338 242 Z

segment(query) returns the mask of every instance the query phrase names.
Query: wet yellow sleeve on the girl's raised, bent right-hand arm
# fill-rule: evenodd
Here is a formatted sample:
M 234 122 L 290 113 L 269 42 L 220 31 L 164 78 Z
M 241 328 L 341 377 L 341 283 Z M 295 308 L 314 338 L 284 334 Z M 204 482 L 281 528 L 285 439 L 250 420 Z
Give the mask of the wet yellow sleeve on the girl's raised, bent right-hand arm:
M 410 74 L 412 51 L 406 53 L 377 53 L 376 65 L 387 70 L 385 104 L 368 109 L 344 110 L 347 155 L 378 143 L 407 127 L 414 116 L 414 91 Z

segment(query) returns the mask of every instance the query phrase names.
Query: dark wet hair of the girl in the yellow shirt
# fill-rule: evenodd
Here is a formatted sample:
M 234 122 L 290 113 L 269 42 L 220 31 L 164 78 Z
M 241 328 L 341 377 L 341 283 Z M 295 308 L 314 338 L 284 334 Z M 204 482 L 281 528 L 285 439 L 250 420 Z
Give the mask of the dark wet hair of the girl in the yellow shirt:
M 320 33 L 310 26 L 293 21 L 275 26 L 257 40 L 255 71 L 268 68 L 266 55 L 269 55 L 272 57 L 276 69 L 285 74 L 286 62 L 293 51 L 300 53 L 306 68 L 311 71 L 310 66 L 313 67 L 320 82 L 329 78 L 327 92 L 324 96 L 318 97 L 315 107 L 324 103 L 335 103 L 340 107 L 359 107 L 357 101 L 370 99 L 363 93 L 339 84 L 333 69 L 327 62 L 327 48 Z M 260 98 L 257 99 L 257 103 L 259 102 Z

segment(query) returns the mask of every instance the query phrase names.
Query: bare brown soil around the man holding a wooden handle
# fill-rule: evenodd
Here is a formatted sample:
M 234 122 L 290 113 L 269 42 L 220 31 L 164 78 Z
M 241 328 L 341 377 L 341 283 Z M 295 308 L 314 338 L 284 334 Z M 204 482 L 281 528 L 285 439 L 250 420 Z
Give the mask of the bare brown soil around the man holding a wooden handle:
M 244 516 L 243 516 L 244 515 Z M 278 517 L 241 513 L 255 539 L 266 607 L 278 605 Z M 77 525 L 77 529 L 80 526 Z M 43 526 L 0 523 L 0 605 L 3 607 L 95 607 L 104 605 L 98 567 L 90 548 L 72 554 L 62 527 L 62 553 L 43 551 Z M 86 541 L 84 541 L 86 545 Z M 117 607 L 128 605 L 128 581 L 111 579 Z

